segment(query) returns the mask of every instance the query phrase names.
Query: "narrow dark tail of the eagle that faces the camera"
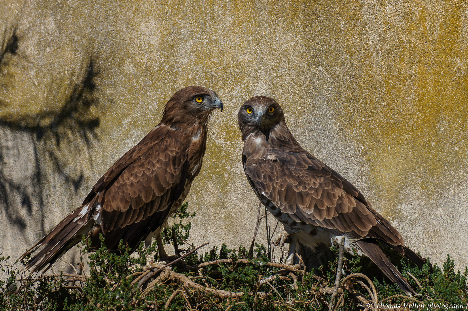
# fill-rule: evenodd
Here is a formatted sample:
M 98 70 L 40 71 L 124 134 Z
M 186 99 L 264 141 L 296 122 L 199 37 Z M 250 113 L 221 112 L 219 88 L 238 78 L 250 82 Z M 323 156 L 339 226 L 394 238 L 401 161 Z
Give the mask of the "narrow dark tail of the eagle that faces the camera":
M 390 281 L 396 283 L 408 296 L 416 295 L 416 291 L 409 285 L 408 280 L 402 276 L 400 271 L 388 260 L 380 247 L 374 243 L 366 241 L 356 242 L 361 250 L 375 263 L 382 272 L 387 275 Z

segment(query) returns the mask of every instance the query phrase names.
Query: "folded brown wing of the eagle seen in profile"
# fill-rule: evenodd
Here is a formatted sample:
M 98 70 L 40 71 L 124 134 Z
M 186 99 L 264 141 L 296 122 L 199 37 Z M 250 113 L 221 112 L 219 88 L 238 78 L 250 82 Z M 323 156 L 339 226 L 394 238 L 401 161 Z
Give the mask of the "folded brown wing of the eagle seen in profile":
M 111 237 L 106 242 L 108 248 L 115 249 L 120 239 L 132 248 L 137 247 L 174 212 L 172 205 L 187 181 L 188 160 L 182 151 L 181 131 L 171 133 L 159 144 L 146 148 L 144 155 L 103 190 L 105 195 L 99 202 L 101 230 L 106 239 Z

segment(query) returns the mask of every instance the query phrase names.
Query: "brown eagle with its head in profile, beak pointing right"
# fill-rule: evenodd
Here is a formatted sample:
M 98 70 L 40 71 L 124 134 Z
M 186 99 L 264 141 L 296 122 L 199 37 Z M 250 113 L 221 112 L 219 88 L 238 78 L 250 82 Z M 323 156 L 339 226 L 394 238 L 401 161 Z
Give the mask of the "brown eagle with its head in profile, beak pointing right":
M 49 268 L 83 234 L 97 249 L 102 233 L 110 251 L 117 251 L 121 239 L 133 250 L 142 240 L 148 246 L 154 235 L 161 239 L 163 226 L 200 172 L 207 122 L 215 108 L 222 111 L 223 103 L 208 88 L 177 91 L 164 107 L 161 123 L 107 170 L 79 208 L 21 256 L 40 249 L 25 269 Z

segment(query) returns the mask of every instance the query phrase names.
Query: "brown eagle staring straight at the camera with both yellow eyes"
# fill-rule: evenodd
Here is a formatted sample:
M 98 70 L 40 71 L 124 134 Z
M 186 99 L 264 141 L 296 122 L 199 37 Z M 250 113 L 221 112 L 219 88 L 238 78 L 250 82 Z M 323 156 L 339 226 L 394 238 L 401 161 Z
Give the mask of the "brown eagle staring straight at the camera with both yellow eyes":
M 343 176 L 305 151 L 294 139 L 276 101 L 256 96 L 238 113 L 244 148 L 242 164 L 250 186 L 284 225 L 291 240 L 287 263 L 298 241 L 314 250 L 339 244 L 368 256 L 408 295 L 416 292 L 388 260 L 378 241 L 422 265 L 425 260 L 405 246 L 400 233 Z

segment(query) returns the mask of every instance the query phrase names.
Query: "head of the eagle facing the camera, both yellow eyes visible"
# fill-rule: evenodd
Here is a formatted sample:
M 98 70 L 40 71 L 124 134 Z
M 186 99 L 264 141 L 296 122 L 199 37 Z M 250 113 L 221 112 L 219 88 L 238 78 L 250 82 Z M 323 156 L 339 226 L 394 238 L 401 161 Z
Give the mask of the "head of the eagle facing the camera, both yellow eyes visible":
M 256 132 L 263 133 L 268 141 L 275 127 L 285 125 L 283 109 L 274 99 L 266 96 L 255 96 L 244 102 L 237 117 L 244 141 L 245 137 Z

